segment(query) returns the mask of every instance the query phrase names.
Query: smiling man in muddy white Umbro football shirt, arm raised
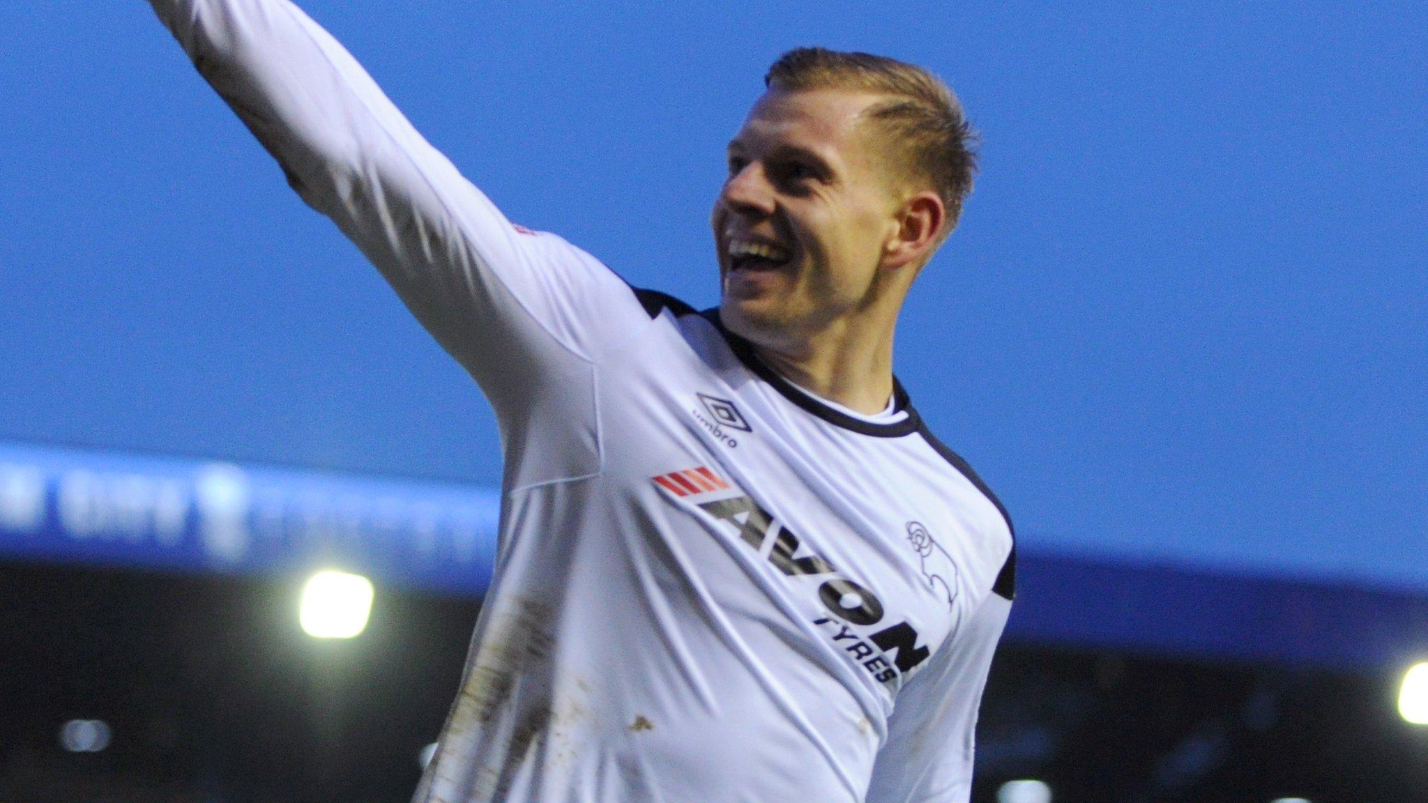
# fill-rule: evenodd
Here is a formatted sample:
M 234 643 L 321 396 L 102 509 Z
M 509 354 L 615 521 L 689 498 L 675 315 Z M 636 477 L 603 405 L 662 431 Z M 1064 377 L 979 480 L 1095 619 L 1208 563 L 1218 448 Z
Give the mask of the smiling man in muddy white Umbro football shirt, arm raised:
M 291 3 L 153 6 L 500 422 L 496 576 L 417 800 L 967 800 L 1011 524 L 891 366 L 971 186 L 940 81 L 780 59 L 698 313 L 507 221 Z

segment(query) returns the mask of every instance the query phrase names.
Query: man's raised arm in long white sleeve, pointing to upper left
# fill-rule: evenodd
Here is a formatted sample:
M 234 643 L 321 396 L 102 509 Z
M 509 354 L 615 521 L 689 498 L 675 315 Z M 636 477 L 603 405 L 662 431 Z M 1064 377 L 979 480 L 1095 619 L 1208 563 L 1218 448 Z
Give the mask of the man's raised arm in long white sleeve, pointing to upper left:
M 293 3 L 151 3 L 293 189 L 381 270 L 498 416 L 550 384 L 528 371 L 568 373 L 635 323 L 618 277 L 560 237 L 511 226 Z

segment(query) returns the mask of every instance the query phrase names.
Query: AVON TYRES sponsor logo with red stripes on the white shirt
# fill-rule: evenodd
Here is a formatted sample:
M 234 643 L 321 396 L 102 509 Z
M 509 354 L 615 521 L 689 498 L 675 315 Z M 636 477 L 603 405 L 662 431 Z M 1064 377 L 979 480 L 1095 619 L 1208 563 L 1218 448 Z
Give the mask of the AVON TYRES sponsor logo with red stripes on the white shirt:
M 778 523 L 753 499 L 738 494 L 727 482 L 705 467 L 674 472 L 654 477 L 654 483 L 677 497 L 690 499 L 700 510 L 731 524 L 740 539 L 754 552 L 768 549 L 768 562 L 787 577 L 820 577 L 818 602 L 828 616 L 818 617 L 820 626 L 833 643 L 858 662 L 874 680 L 900 684 L 908 672 L 931 654 L 918 646 L 917 630 L 907 622 L 888 626 L 883 602 L 870 589 L 844 577 L 831 563 L 803 546 L 798 536 Z M 873 630 L 868 633 L 868 630 Z

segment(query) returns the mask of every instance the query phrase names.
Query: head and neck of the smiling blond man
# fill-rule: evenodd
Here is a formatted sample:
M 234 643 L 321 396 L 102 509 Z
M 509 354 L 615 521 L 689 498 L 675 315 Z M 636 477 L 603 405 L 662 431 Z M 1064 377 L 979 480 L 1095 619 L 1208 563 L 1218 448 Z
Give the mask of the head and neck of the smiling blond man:
M 892 330 L 971 190 L 971 133 L 917 67 L 784 54 L 728 149 L 714 206 L 721 316 L 760 357 L 864 412 L 892 396 Z

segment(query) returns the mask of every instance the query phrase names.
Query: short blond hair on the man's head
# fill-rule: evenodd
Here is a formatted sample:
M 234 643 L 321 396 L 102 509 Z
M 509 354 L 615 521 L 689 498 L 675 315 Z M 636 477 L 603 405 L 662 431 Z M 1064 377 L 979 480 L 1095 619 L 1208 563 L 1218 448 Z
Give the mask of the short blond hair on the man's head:
M 941 79 L 885 56 L 798 47 L 768 67 L 764 86 L 778 91 L 838 89 L 888 96 L 868 107 L 867 119 L 892 147 L 892 164 L 901 177 L 928 181 L 941 196 L 947 206 L 941 237 L 957 227 L 977 173 L 977 133 Z

